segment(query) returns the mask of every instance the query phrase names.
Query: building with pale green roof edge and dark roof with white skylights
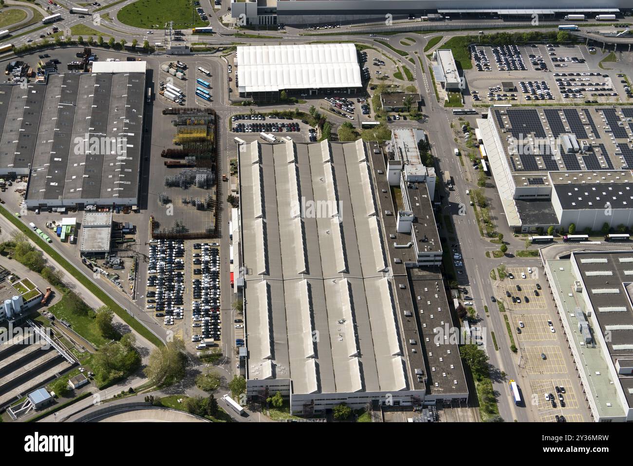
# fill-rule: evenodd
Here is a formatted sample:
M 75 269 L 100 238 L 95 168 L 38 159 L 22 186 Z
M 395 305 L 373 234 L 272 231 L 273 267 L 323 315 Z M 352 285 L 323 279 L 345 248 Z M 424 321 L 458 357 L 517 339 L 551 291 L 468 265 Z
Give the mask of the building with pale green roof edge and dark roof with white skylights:
M 587 249 L 587 248 L 584 248 Z M 560 251 L 559 254 L 556 251 Z M 633 420 L 633 251 L 542 249 L 546 277 L 596 422 Z

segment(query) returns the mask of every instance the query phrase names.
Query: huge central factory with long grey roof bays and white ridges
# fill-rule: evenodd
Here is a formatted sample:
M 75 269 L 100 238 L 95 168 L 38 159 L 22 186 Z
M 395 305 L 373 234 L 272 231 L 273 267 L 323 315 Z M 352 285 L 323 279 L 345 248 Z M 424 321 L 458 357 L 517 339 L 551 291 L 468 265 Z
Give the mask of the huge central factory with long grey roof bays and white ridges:
M 468 397 L 456 344 L 436 348 L 430 331 L 423 341 L 417 316 L 425 309 L 438 325 L 451 323 L 448 299 L 439 273 L 411 269 L 409 277 L 413 218 L 382 217 L 393 201 L 378 205 L 373 177 L 382 173 L 386 183 L 387 175 L 372 169 L 370 151 L 381 153 L 362 141 L 254 141 L 239 151 L 250 398 L 280 391 L 292 412 L 309 414 L 341 401 L 361 408 Z M 428 194 L 426 201 L 413 225 L 437 252 Z M 400 236 L 402 222 L 408 234 Z M 414 303 L 409 287 L 423 301 Z

